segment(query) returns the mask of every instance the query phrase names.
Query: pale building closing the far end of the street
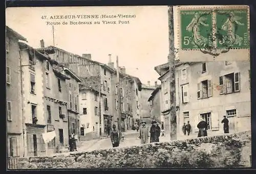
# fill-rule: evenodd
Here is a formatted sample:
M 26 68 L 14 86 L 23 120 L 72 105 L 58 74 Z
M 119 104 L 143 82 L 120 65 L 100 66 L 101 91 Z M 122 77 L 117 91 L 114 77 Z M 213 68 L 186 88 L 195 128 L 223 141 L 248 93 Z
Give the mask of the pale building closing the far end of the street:
M 139 104 L 138 104 L 141 118 L 151 117 L 150 103 L 148 103 L 147 100 L 155 89 L 156 89 L 155 86 L 150 85 L 150 81 L 147 82 L 147 85 L 142 84 L 141 86 L 141 92 L 139 94 Z

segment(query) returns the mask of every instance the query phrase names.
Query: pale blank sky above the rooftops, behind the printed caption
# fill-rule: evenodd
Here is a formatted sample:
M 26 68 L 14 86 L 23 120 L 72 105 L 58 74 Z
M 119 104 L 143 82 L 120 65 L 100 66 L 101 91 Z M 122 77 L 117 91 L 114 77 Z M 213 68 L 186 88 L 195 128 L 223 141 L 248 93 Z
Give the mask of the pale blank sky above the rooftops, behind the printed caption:
M 78 55 L 91 54 L 92 60 L 101 63 L 108 63 L 108 55 L 112 54 L 115 67 L 118 56 L 119 67 L 125 67 L 127 74 L 139 77 L 144 84 L 151 81 L 154 85 L 155 81 L 160 84 L 154 67 L 167 62 L 167 9 L 167 6 L 12 7 L 6 9 L 6 25 L 27 38 L 28 45 L 40 48 L 41 39 L 45 47 L 53 46 L 53 27 L 47 22 L 55 23 L 55 47 Z M 100 18 L 118 14 L 136 17 Z M 99 18 L 50 18 L 59 15 L 99 15 Z M 103 24 L 103 20 L 117 24 Z M 119 20 L 129 21 L 129 24 L 118 24 Z M 92 21 L 92 24 L 71 25 L 70 21 Z

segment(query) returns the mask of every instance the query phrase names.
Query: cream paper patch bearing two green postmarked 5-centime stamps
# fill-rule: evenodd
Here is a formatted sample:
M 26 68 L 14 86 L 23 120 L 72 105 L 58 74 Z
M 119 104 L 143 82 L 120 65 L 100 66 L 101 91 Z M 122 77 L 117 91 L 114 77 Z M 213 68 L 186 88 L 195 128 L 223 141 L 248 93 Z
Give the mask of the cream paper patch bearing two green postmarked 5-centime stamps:
M 174 21 L 175 47 L 181 61 L 248 59 L 248 6 L 178 6 L 174 8 Z M 198 60 L 191 60 L 191 53 Z M 230 54 L 236 56 L 228 58 Z

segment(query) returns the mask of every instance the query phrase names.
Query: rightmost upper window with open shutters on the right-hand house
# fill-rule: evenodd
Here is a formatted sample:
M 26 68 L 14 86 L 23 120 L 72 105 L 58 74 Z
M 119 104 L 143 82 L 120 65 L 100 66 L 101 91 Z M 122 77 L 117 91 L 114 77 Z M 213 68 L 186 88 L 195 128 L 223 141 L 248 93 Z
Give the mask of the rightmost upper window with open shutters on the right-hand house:
M 220 94 L 240 91 L 240 73 L 231 73 L 219 77 Z

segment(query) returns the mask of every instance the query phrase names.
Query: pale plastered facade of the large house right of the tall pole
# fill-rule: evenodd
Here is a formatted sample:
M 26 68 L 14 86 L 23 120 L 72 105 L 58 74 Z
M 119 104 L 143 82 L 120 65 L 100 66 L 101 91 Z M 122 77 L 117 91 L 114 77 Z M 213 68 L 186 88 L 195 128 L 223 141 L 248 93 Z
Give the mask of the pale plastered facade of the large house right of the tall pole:
M 177 125 L 190 121 L 193 133 L 204 118 L 208 135 L 223 134 L 225 115 L 229 132 L 251 128 L 250 62 L 216 61 L 180 63 L 176 68 L 179 113 Z M 178 130 L 178 137 L 181 130 Z

